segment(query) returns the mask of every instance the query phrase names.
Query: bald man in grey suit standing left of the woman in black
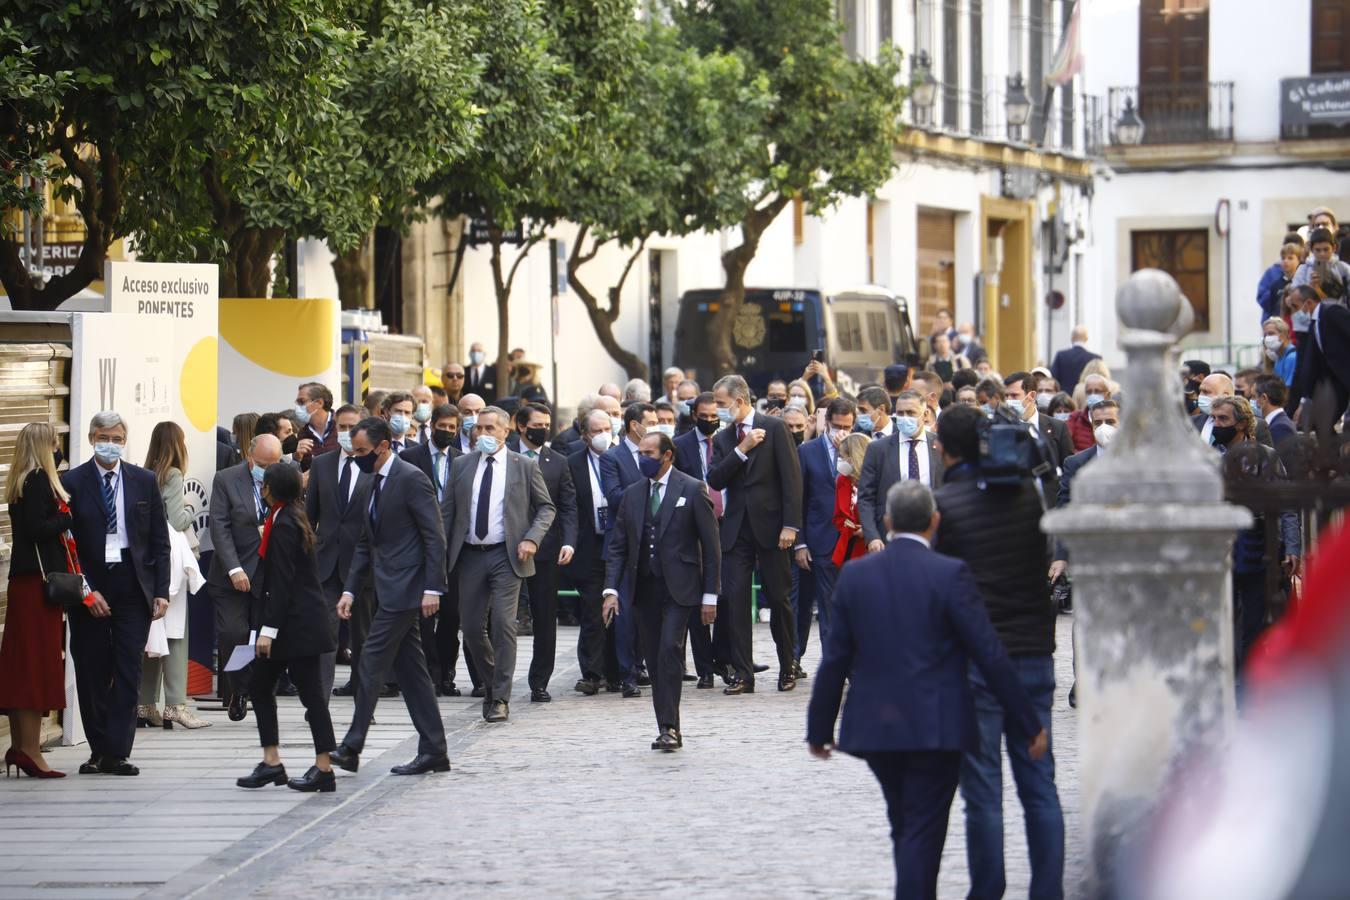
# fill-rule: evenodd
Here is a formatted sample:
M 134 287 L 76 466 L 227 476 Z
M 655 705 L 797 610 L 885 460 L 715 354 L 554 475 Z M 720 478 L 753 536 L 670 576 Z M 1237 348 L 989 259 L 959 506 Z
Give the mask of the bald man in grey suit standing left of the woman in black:
M 207 575 L 207 594 L 216 607 L 216 661 L 220 665 L 220 695 L 230 718 L 244 718 L 247 679 L 225 672 L 230 654 L 248 642 L 250 613 L 259 596 L 258 545 L 267 506 L 262 501 L 262 476 L 281 461 L 281 441 L 258 434 L 248 444 L 244 461 L 216 472 L 211 487 L 211 542 L 215 553 Z

